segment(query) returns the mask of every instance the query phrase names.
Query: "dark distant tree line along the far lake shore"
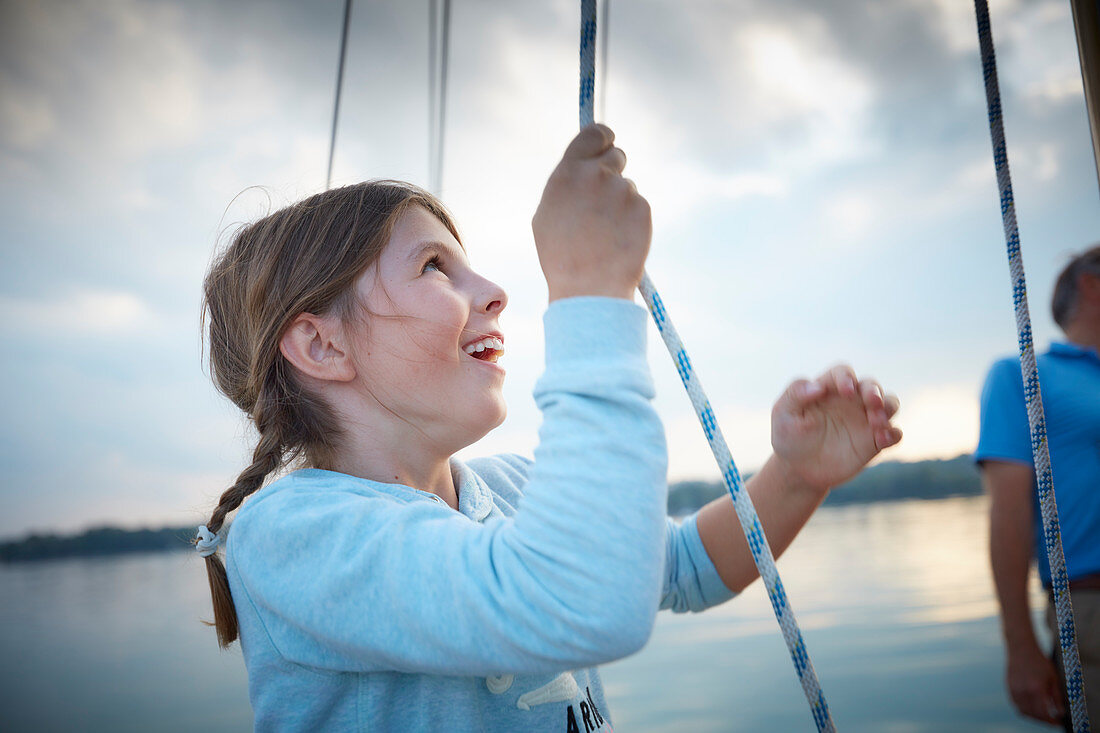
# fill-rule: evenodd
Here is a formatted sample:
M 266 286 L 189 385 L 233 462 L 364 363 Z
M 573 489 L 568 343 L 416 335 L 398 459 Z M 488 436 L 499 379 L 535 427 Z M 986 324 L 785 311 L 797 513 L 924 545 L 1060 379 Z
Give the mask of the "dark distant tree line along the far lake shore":
M 748 475 L 746 477 L 748 480 Z M 669 488 L 669 514 L 683 516 L 726 493 L 719 481 L 681 481 Z M 897 461 L 872 466 L 834 489 L 826 505 L 862 504 L 905 499 L 945 499 L 981 493 L 978 470 L 969 456 L 914 463 Z M 189 549 L 195 527 L 121 529 L 96 527 L 78 535 L 34 534 L 0 543 L 0 561 L 96 557 L 124 553 Z

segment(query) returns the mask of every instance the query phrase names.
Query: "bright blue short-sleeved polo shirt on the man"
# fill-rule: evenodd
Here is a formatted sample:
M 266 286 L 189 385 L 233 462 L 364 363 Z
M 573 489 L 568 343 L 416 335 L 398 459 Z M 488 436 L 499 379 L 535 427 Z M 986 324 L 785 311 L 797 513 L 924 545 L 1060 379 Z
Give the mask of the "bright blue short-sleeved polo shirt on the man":
M 1070 580 L 1100 572 L 1100 355 L 1074 343 L 1052 343 L 1038 357 L 1054 494 Z M 1001 359 L 981 391 L 981 429 L 975 460 L 1033 466 L 1020 360 Z M 1034 483 L 1033 483 L 1034 485 Z M 1035 503 L 1040 578 L 1050 586 L 1043 519 Z

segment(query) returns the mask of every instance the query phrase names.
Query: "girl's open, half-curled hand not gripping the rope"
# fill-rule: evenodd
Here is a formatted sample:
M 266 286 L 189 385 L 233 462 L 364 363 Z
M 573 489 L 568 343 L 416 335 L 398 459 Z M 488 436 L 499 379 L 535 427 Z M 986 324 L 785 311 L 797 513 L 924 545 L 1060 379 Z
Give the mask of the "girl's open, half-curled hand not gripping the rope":
M 792 478 L 825 492 L 897 445 L 898 397 L 847 364 L 792 382 L 771 411 L 771 446 Z

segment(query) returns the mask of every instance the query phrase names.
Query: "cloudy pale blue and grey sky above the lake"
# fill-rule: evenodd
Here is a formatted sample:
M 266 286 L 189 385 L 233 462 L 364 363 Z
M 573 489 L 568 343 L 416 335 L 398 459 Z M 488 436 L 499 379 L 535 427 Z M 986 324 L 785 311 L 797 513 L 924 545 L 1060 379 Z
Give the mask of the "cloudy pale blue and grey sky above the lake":
M 334 184 L 428 184 L 428 4 L 355 4 Z M 509 294 L 509 416 L 460 457 L 537 442 L 530 217 L 578 125 L 579 4 L 452 3 L 441 196 Z M 1042 347 L 1054 277 L 1100 239 L 1097 172 L 1069 4 L 991 4 Z M 235 226 L 323 189 L 342 13 L 0 0 L 0 537 L 198 524 L 246 464 L 201 281 Z M 901 398 L 883 459 L 972 450 L 1015 326 L 970 3 L 615 0 L 607 31 L 597 109 L 739 467 L 766 460 L 784 386 L 840 361 Z M 717 479 L 649 332 L 669 478 Z

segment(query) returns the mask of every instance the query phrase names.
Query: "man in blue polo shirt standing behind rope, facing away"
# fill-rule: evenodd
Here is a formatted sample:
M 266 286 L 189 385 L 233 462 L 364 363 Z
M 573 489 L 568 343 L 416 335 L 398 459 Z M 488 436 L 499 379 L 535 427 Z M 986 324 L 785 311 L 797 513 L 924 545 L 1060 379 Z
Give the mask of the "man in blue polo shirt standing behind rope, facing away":
M 1038 355 L 1047 442 L 1077 644 L 1092 725 L 1100 723 L 1100 245 L 1058 275 L 1052 303 L 1066 336 Z M 975 460 L 989 493 L 989 549 L 1001 605 L 1007 685 L 1016 709 L 1069 727 L 1050 568 L 1043 540 L 1031 433 L 1016 358 L 992 365 L 981 393 Z M 1027 602 L 1032 557 L 1048 591 L 1054 658 L 1040 648 Z

